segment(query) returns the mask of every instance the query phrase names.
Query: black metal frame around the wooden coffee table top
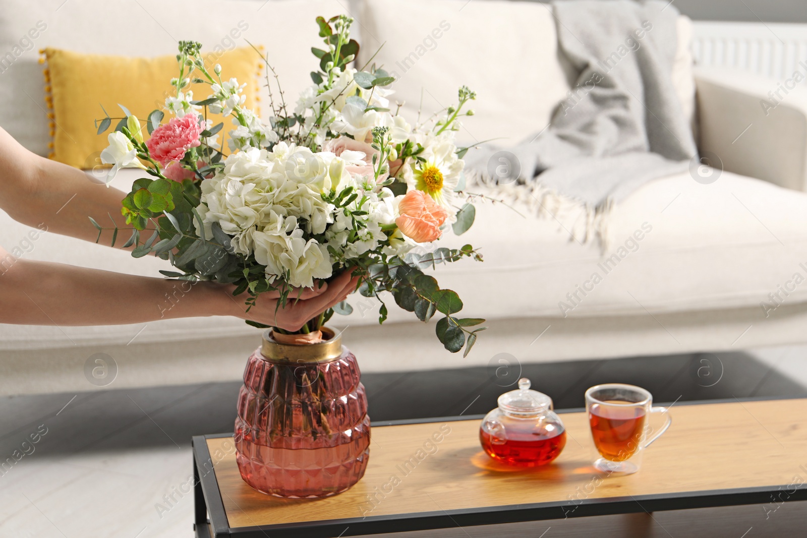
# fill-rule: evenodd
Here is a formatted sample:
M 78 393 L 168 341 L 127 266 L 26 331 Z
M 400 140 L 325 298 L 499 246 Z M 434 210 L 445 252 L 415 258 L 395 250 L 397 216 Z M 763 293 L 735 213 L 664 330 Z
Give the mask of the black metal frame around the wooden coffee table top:
M 753 402 L 784 398 L 732 398 L 725 400 L 704 400 L 678 402 L 676 405 L 699 405 L 726 402 Z M 566 409 L 558 413 L 574 413 L 582 409 Z M 434 419 L 391 420 L 374 422 L 373 427 L 398 424 L 454 422 L 458 420 L 483 419 L 484 415 L 441 417 Z M 194 529 L 198 538 L 332 538 L 333 536 L 363 536 L 389 532 L 412 532 L 440 528 L 475 527 L 544 519 L 566 519 L 592 515 L 617 515 L 641 512 L 685 510 L 689 508 L 728 507 L 743 504 L 763 504 L 771 501 L 771 494 L 787 490 L 788 500 L 807 500 L 807 484 L 801 486 L 779 485 L 731 490 L 681 491 L 669 494 L 638 495 L 631 497 L 609 497 L 581 499 L 579 502 L 562 501 L 554 503 L 519 504 L 502 507 L 479 507 L 462 510 L 430 511 L 409 514 L 371 515 L 364 518 L 330 519 L 303 523 L 282 523 L 255 527 L 230 528 L 224 511 L 219 483 L 213 472 L 207 439 L 230 437 L 232 433 L 207 436 L 194 436 Z M 203 463 L 204 473 L 199 473 L 199 463 Z M 795 490 L 793 489 L 795 488 Z M 792 493 L 791 493 L 792 492 Z M 570 508 L 573 508 L 570 510 Z M 209 518 L 208 518 L 209 515 Z

